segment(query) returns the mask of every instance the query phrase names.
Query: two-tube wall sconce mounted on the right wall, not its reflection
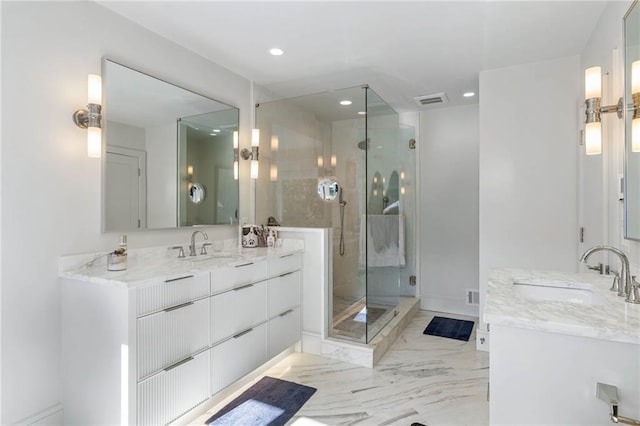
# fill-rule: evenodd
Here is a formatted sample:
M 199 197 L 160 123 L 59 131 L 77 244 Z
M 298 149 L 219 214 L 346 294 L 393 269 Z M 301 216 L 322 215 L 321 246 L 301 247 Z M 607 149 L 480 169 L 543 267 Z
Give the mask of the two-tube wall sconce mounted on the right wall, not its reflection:
M 602 123 L 600 114 L 615 112 L 622 118 L 624 102 L 622 98 L 616 105 L 601 106 L 602 100 L 602 70 L 591 67 L 584 70 L 584 98 L 586 105 L 586 120 L 584 126 L 584 145 L 587 155 L 602 154 Z

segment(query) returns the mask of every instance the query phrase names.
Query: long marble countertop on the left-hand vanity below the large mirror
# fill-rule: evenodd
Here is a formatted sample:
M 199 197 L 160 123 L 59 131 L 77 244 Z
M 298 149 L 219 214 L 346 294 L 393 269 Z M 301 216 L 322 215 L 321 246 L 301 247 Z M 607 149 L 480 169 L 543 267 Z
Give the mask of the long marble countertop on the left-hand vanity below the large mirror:
M 86 253 L 60 258 L 59 276 L 97 284 L 138 287 L 197 274 L 224 266 L 256 262 L 271 256 L 304 251 L 301 240 L 284 240 L 278 248 L 235 248 L 225 244 L 220 251 L 208 255 L 178 258 L 169 247 L 129 250 L 127 269 L 108 271 L 105 253 Z

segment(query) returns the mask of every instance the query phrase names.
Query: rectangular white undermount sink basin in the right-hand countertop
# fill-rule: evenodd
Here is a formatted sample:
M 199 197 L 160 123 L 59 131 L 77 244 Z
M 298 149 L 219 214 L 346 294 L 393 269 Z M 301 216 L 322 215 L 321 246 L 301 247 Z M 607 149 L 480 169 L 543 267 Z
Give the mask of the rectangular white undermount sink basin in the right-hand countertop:
M 569 302 L 578 305 L 602 305 L 607 299 L 591 284 L 568 281 L 517 280 L 513 293 L 525 299 Z

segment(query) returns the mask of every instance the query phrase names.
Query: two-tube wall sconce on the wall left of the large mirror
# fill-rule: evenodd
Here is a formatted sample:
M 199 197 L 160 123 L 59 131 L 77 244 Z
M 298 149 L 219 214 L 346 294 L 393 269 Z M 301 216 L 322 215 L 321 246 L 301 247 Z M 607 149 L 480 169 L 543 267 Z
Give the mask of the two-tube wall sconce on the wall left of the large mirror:
M 100 158 L 102 154 L 102 78 L 89 74 L 87 109 L 79 109 L 73 114 L 73 122 L 87 129 L 87 156 Z

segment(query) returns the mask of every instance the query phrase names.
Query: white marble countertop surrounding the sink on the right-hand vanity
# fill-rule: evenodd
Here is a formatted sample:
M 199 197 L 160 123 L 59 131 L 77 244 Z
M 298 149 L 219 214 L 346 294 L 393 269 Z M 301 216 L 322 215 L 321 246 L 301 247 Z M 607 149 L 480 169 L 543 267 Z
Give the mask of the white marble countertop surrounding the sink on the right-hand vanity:
M 610 291 L 613 276 L 524 269 L 494 269 L 489 275 L 484 321 L 529 330 L 640 344 L 640 305 Z M 603 301 L 580 304 L 525 298 L 514 282 L 587 284 Z

